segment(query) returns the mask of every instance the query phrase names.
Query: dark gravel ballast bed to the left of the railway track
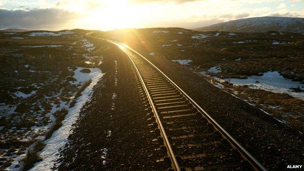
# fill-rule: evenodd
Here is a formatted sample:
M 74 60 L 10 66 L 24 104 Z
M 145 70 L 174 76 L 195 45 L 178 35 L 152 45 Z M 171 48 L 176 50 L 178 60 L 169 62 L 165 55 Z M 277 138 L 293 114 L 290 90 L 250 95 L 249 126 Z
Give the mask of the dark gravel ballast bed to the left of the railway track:
M 159 136 L 151 131 L 143 96 L 138 92 L 131 62 L 116 46 L 103 55 L 106 74 L 95 86 L 91 101 L 82 109 L 69 143 L 61 152 L 58 170 L 166 170 L 156 162 L 166 156 L 155 151 L 163 145 L 152 142 Z M 109 52 L 109 51 L 108 51 Z

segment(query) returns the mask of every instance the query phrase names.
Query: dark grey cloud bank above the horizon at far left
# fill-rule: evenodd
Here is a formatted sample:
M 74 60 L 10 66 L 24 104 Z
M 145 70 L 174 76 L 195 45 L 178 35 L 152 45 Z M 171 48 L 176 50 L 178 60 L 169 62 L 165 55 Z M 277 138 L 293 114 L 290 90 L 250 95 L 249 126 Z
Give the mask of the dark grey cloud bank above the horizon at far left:
M 0 9 L 0 27 L 58 28 L 75 19 L 74 13 L 55 9 L 7 10 Z

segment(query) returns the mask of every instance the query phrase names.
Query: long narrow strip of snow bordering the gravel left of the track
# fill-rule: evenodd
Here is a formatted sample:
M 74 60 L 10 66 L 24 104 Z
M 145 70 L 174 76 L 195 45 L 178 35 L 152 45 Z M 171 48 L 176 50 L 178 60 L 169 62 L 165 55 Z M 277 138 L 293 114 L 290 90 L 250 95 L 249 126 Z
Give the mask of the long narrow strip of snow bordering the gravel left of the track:
M 81 93 L 81 96 L 76 99 L 75 106 L 69 109 L 69 113 L 62 121 L 62 126 L 52 134 L 51 138 L 45 141 L 46 146 L 39 154 L 42 161 L 35 163 L 34 167 L 30 169 L 30 171 L 52 170 L 54 162 L 56 162 L 59 157 L 58 154 L 60 149 L 64 147 L 68 140 L 68 136 L 72 133 L 72 125 L 76 122 L 81 108 L 91 98 L 94 85 L 103 75 L 104 74 L 99 69 L 94 75 L 91 75 L 92 83 Z M 106 155 L 106 152 L 104 155 Z

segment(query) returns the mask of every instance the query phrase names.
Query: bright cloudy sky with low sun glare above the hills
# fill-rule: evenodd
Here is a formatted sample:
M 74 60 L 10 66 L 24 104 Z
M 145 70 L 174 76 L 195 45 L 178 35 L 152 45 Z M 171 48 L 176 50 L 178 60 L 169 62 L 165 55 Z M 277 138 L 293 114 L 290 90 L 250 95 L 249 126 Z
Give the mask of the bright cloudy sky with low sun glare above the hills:
M 0 0 L 0 28 L 197 28 L 251 17 L 304 17 L 304 0 Z

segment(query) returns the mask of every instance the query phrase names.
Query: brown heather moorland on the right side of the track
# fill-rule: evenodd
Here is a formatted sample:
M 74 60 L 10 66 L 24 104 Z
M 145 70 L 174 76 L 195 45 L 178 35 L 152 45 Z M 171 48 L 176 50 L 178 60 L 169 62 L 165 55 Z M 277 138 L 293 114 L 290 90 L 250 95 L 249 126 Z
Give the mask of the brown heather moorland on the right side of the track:
M 180 59 L 179 64 L 205 77 L 215 86 L 256 105 L 294 129 L 304 131 L 304 35 L 301 33 L 147 28 L 115 30 L 96 33 L 95 36 L 124 42 L 148 59 Z M 185 62 L 186 59 L 188 62 Z M 265 91 L 253 89 L 254 85 L 229 83 L 232 78 L 245 80 L 267 72 L 277 72 L 284 77 L 286 86 L 290 84 L 287 88 L 290 93 L 278 93 L 275 87 Z M 291 85 L 294 81 L 297 87 Z M 272 85 L 280 83 L 273 82 Z M 300 98 L 290 95 L 295 93 L 299 93 Z

